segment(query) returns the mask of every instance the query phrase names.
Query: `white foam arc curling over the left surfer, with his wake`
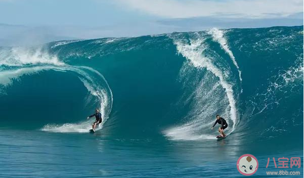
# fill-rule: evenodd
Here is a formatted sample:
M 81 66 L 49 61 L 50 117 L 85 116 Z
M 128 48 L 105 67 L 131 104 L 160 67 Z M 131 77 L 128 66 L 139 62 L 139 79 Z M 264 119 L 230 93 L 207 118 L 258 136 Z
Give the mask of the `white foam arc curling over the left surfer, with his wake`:
M 41 52 L 41 49 L 37 50 L 38 51 L 26 51 L 20 50 L 19 48 L 13 48 L 7 51 L 7 53 L 11 53 L 9 56 L 14 57 L 14 60 L 10 60 L 11 58 L 4 58 L 5 60 L 1 61 L 3 67 L 0 71 L 0 84 L 2 84 L 2 87 L 12 85 L 13 81 L 18 80 L 24 75 L 34 75 L 45 70 L 75 73 L 90 94 L 95 96 L 100 102 L 103 122 L 99 125 L 97 130 L 101 129 L 109 118 L 113 103 L 112 91 L 106 79 L 97 72 L 97 70 L 94 70 L 91 67 L 68 65 L 60 62 L 56 56 Z M 21 53 L 19 53 L 20 51 Z M 81 121 L 76 124 L 48 124 L 41 130 L 53 132 L 88 132 L 90 128 L 90 121 Z

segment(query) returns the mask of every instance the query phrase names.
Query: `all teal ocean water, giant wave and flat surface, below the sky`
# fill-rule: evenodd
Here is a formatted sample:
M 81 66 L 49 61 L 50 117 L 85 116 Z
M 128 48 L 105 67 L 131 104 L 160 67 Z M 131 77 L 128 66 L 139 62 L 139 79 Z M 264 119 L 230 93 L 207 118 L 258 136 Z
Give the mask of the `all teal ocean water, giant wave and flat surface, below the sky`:
M 302 129 L 303 26 L 0 47 L 1 177 L 301 177 Z

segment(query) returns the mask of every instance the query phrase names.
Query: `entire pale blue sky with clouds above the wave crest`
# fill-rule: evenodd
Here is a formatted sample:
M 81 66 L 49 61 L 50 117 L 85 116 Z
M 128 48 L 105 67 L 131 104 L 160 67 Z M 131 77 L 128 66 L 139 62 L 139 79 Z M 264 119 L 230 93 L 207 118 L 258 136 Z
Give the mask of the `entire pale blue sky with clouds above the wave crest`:
M 300 0 L 0 0 L 0 45 L 302 24 Z

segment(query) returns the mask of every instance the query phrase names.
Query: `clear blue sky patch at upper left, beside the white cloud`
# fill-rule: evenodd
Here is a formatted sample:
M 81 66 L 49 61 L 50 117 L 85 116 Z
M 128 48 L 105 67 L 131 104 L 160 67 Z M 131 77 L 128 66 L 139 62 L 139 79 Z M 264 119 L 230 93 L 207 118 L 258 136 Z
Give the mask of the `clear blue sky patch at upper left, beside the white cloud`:
M 18 25 L 107 26 L 153 19 L 102 0 L 0 0 L 0 8 L 1 23 Z

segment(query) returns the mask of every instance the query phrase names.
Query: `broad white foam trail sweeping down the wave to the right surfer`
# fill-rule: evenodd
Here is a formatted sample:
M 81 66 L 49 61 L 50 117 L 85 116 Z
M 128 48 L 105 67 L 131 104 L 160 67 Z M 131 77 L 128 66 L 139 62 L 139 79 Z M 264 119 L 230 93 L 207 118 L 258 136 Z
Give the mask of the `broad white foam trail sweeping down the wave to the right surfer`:
M 172 38 L 172 37 L 171 37 Z M 234 99 L 234 91 L 232 89 L 232 84 L 229 84 L 225 77 L 226 75 L 223 74 L 222 70 L 217 68 L 210 58 L 204 56 L 203 52 L 206 50 L 207 46 L 203 44 L 205 38 L 202 36 L 197 37 L 197 39 L 190 39 L 190 44 L 185 43 L 184 41 L 180 39 L 173 38 L 173 42 L 177 46 L 177 51 L 179 54 L 183 55 L 188 61 L 195 66 L 196 68 L 205 68 L 207 69 L 208 72 L 210 72 L 212 75 L 214 75 L 216 78 L 218 78 L 219 83 L 223 87 L 223 89 L 226 92 L 227 100 L 228 100 L 228 107 L 226 110 L 229 108 L 229 116 L 223 115 L 223 117 L 229 119 L 232 121 L 232 128 L 228 129 L 228 133 L 230 134 L 235 130 L 235 127 L 238 123 L 238 117 L 237 117 L 237 109 L 236 109 L 236 101 Z M 208 77 L 210 79 L 210 77 Z M 211 85 L 211 84 L 209 84 Z M 200 85 L 198 85 L 198 88 L 196 89 L 195 96 L 197 96 L 200 100 L 202 101 L 213 101 L 213 103 L 206 103 L 202 104 L 198 103 L 194 105 L 194 112 L 192 113 L 192 116 L 189 118 L 193 117 L 198 117 L 198 119 L 192 119 L 188 123 L 183 124 L 181 126 L 177 127 L 172 127 L 164 131 L 165 135 L 169 136 L 171 139 L 207 139 L 208 135 L 207 134 L 198 134 L 202 130 L 206 130 L 209 128 L 209 126 L 212 124 L 212 122 L 206 123 L 204 116 L 210 115 L 210 113 L 214 113 L 214 110 L 216 111 L 216 105 L 215 104 L 217 99 L 219 98 L 208 98 L 212 96 L 216 96 L 216 93 L 214 92 L 215 90 L 218 90 L 218 87 L 216 86 L 216 83 L 213 84 L 211 87 L 211 90 L 206 93 L 206 91 L 202 91 L 203 86 L 205 86 L 204 82 L 202 82 Z M 200 96 L 199 96 L 200 95 Z M 221 102 L 225 100 L 225 98 L 221 98 Z M 211 106 L 208 106 L 208 104 L 211 104 Z M 203 108 L 206 109 L 204 110 L 199 110 L 198 108 Z M 202 115 L 197 114 L 201 112 Z M 212 111 L 213 110 L 213 111 Z M 195 116 L 196 115 L 196 116 Z

